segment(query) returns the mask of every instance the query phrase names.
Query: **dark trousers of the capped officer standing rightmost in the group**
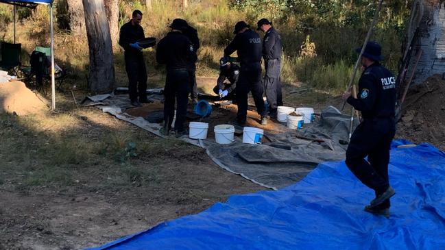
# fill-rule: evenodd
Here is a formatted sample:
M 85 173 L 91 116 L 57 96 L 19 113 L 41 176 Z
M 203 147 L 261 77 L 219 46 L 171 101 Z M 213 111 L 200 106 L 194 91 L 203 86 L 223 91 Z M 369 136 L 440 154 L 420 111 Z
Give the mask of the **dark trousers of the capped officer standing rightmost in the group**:
M 269 109 L 271 112 L 276 112 L 278 106 L 282 106 L 282 92 L 281 92 L 281 62 L 279 59 L 267 60 L 265 62 L 265 77 L 264 77 L 264 89 L 269 103 Z

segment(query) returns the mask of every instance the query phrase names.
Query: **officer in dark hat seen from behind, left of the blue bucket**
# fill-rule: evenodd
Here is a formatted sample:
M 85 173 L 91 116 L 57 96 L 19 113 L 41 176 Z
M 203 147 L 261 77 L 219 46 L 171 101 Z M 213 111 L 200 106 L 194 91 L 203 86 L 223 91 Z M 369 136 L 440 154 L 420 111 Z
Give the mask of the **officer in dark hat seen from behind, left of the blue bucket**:
M 184 19 L 176 18 L 171 25 L 171 32 L 158 42 L 156 60 L 167 65 L 167 77 L 164 88 L 164 127 L 161 133 L 168 135 L 175 114 L 174 132 L 177 136 L 187 134 L 184 122 L 187 114 L 187 102 L 190 93 L 189 66 L 196 61 L 193 43 L 182 32 L 189 25 Z

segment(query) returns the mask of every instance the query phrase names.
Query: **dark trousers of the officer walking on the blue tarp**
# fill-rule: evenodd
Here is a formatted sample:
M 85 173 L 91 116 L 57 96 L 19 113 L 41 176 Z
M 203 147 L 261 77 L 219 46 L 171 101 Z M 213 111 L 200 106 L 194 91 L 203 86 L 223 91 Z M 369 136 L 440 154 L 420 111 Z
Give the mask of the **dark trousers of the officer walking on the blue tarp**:
M 389 187 L 389 149 L 395 134 L 394 118 L 365 119 L 355 129 L 346 150 L 346 165 L 365 186 L 374 189 L 376 195 Z M 389 205 L 388 199 L 380 207 L 389 208 Z

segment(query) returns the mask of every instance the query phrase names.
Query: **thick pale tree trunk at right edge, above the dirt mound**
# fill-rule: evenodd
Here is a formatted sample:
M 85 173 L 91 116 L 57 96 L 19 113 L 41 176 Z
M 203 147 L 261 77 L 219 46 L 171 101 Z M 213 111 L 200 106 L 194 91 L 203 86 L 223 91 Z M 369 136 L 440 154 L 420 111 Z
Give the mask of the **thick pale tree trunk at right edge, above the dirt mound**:
M 435 74 L 445 73 L 445 9 L 441 0 L 420 0 L 415 1 L 417 12 L 411 12 L 413 24 L 408 30 L 408 41 L 412 38 L 414 31 L 419 29 L 418 38 L 415 40 L 413 53 L 411 54 L 410 65 L 407 77 L 414 72 L 411 84 L 421 84 L 426 78 Z M 422 6 L 421 8 L 419 6 Z M 413 10 L 416 10 L 413 7 Z M 421 12 L 421 13 L 419 13 Z M 416 20 L 419 20 L 416 22 Z M 415 67 L 418 53 L 422 49 L 422 55 Z

